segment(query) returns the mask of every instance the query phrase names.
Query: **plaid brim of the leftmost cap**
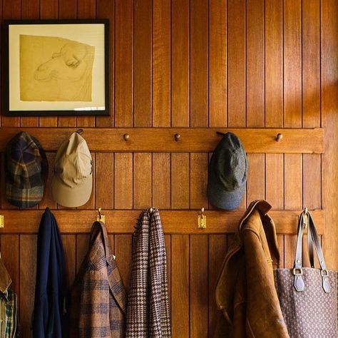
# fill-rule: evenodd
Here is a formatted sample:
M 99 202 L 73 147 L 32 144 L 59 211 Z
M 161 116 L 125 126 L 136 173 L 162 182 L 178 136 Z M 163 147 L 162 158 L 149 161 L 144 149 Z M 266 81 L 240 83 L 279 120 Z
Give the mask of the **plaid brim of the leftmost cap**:
M 18 208 L 32 208 L 41 202 L 43 190 L 43 185 L 30 189 L 20 189 L 6 182 L 6 200 Z

